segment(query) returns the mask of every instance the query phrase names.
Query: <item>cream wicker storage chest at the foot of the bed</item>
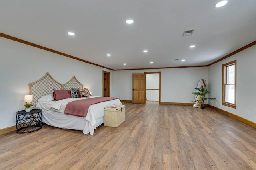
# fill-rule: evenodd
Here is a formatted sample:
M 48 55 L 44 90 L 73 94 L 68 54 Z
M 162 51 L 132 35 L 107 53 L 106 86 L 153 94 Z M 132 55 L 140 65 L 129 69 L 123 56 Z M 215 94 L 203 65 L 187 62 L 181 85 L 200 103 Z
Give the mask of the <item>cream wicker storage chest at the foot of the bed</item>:
M 118 105 L 116 108 L 104 108 L 104 126 L 118 127 L 125 121 L 125 106 Z

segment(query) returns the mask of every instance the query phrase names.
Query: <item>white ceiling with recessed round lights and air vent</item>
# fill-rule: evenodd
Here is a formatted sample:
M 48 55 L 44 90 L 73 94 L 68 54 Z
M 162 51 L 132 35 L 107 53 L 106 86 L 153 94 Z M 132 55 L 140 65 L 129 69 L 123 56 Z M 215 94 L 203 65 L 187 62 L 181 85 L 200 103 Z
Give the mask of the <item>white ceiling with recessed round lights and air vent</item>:
M 256 0 L 218 1 L 1 0 L 0 33 L 114 70 L 204 66 L 256 40 Z

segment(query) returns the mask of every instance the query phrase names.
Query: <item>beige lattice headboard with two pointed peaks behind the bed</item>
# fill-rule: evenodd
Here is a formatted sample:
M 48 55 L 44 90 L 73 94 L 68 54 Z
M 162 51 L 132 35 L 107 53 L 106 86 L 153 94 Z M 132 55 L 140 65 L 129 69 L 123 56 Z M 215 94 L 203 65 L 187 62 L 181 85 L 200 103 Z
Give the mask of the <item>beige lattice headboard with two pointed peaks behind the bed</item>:
M 33 104 L 36 104 L 37 100 L 42 96 L 52 94 L 53 89 L 62 90 L 62 89 L 71 89 L 78 88 L 83 89 L 83 84 L 81 84 L 75 76 L 73 76 L 68 82 L 65 84 L 61 84 L 57 82 L 49 72 L 47 72 L 42 78 L 39 80 L 28 84 L 29 94 L 33 95 Z

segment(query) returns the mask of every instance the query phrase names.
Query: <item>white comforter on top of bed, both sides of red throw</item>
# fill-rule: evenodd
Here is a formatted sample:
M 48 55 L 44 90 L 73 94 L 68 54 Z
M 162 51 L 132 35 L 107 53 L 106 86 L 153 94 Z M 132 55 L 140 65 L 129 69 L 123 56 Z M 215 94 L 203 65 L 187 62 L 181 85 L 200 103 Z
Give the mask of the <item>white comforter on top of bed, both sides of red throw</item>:
M 94 98 L 94 97 L 98 97 L 98 96 L 91 96 L 90 98 Z M 68 99 L 58 100 L 51 104 L 49 110 L 64 113 L 65 107 L 68 104 L 68 102 L 81 100 L 81 99 L 88 99 L 88 98 L 68 98 Z M 84 119 L 87 120 L 92 127 L 94 127 L 94 125 L 96 125 L 96 119 L 104 116 L 104 107 L 112 104 L 122 104 L 122 103 L 119 99 L 115 99 L 115 100 L 110 100 L 110 101 L 101 102 L 97 104 L 92 104 L 89 107 L 88 113 L 86 117 L 84 117 Z M 37 104 L 37 107 L 38 106 L 40 106 L 40 104 Z

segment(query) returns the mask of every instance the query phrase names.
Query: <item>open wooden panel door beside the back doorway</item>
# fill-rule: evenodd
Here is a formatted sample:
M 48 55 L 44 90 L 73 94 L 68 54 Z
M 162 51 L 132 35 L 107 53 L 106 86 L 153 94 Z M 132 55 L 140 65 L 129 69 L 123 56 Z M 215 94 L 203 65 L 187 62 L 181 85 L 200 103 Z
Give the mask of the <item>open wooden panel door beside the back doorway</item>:
M 132 103 L 146 102 L 145 74 L 132 74 Z

